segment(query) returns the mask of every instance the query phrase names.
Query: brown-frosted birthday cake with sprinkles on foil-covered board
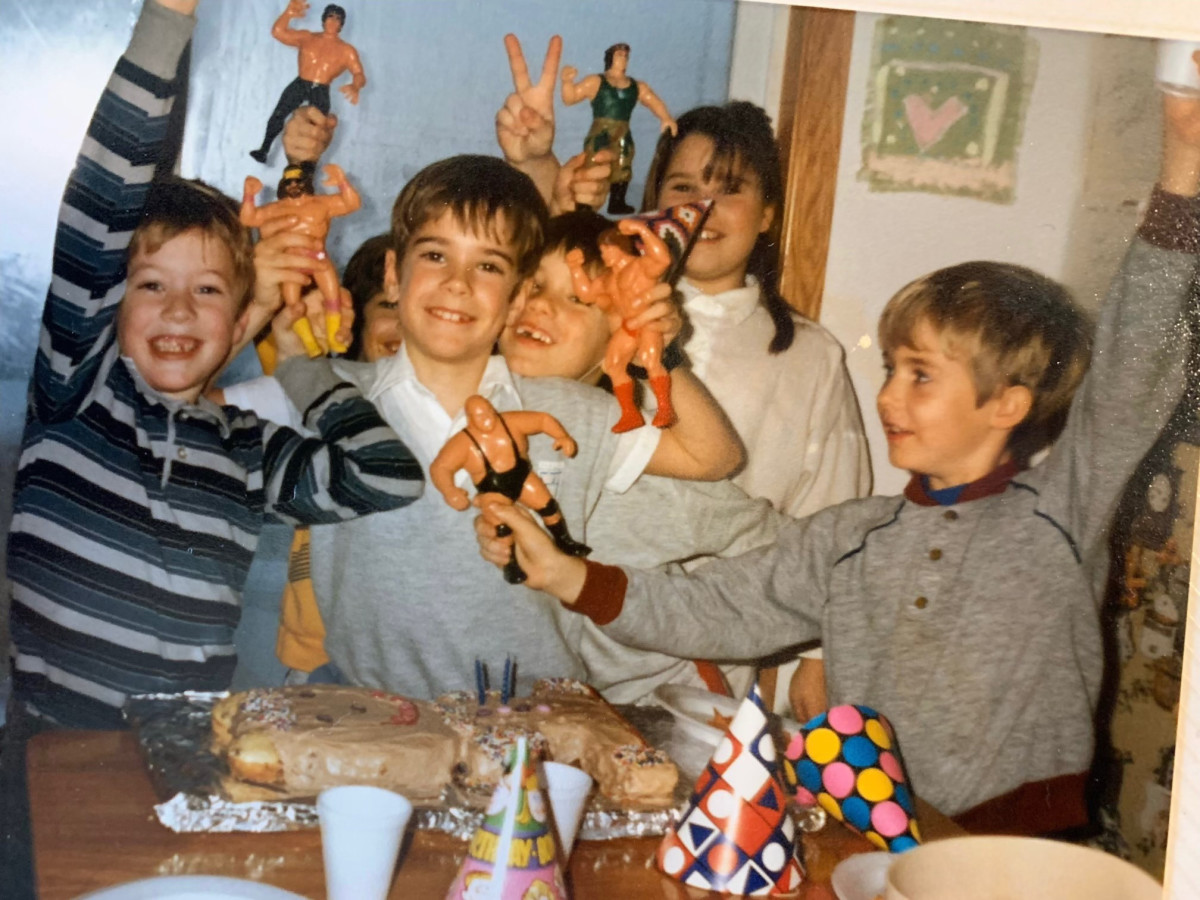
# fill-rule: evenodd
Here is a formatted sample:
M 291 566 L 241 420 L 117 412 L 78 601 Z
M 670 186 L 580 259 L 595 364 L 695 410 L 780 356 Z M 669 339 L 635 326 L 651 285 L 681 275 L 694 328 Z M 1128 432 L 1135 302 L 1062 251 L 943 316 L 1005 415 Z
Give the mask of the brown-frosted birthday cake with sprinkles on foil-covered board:
M 671 803 L 678 772 L 588 685 L 547 679 L 529 697 L 485 702 L 468 691 L 436 703 L 370 688 L 306 685 L 232 694 L 212 710 L 214 746 L 234 800 L 312 797 L 376 785 L 418 802 L 451 782 L 490 793 L 521 734 L 544 757 L 578 766 L 599 793 L 630 808 Z

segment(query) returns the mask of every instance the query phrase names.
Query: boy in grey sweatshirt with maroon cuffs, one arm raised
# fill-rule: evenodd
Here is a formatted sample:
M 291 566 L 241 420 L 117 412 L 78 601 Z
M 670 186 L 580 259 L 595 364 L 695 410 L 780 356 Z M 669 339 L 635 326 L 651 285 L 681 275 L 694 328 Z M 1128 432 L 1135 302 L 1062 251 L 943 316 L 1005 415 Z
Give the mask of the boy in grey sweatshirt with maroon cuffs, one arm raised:
M 1166 104 L 1162 178 L 1078 392 L 1087 337 L 1063 288 L 997 263 L 941 270 L 880 326 L 888 456 L 913 473 L 902 497 L 823 510 L 690 575 L 569 559 L 497 506 L 528 583 L 632 647 L 736 659 L 821 637 L 830 702 L 892 720 L 918 796 L 967 828 L 1082 824 L 1108 527 L 1189 343 L 1200 101 Z M 480 534 L 492 562 L 509 551 Z

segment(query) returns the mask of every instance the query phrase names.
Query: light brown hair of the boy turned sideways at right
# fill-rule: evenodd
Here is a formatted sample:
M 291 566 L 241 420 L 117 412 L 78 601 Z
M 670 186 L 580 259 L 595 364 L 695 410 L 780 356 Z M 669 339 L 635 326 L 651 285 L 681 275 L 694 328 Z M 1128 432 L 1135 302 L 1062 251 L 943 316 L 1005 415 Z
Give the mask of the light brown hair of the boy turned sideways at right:
M 1091 359 L 1091 326 L 1056 281 L 1007 263 L 962 263 L 905 286 L 880 318 L 884 352 L 911 347 L 929 323 L 947 355 L 967 362 L 982 404 L 1022 385 L 1033 398 L 1008 449 L 1020 464 L 1051 444 Z

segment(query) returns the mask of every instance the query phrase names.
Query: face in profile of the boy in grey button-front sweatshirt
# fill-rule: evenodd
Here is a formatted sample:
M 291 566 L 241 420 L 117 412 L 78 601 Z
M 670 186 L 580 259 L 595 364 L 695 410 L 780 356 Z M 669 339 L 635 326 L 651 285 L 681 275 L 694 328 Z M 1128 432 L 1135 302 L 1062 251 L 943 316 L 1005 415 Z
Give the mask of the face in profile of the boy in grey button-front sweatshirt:
M 935 490 L 983 478 L 1008 458 L 1008 436 L 1028 412 L 1028 391 L 1004 388 L 979 403 L 968 360 L 948 355 L 929 322 L 917 324 L 911 344 L 884 354 L 876 407 L 888 461 L 929 476 Z

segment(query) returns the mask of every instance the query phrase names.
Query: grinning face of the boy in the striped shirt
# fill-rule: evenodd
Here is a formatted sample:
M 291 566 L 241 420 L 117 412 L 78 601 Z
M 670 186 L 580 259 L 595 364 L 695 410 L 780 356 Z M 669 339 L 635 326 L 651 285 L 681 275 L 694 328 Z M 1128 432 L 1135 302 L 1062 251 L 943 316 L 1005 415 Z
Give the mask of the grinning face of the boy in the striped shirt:
M 233 260 L 197 229 L 139 248 L 116 320 L 121 353 L 160 394 L 192 403 L 241 338 Z

